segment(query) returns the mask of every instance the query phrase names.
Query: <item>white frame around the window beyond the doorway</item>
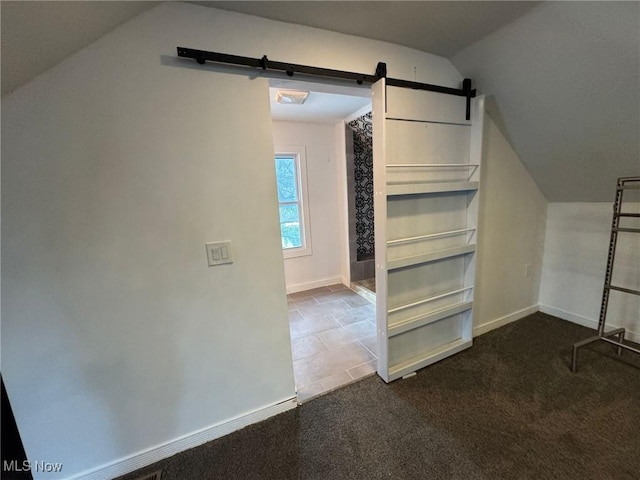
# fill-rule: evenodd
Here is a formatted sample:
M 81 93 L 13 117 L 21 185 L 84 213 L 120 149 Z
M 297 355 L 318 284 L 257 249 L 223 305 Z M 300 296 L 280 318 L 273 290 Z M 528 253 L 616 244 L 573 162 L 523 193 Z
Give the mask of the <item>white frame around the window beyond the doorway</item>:
M 273 161 L 278 157 L 293 157 L 296 163 L 298 205 L 300 212 L 300 234 L 302 246 L 296 248 L 283 248 L 282 256 L 286 258 L 303 257 L 312 255 L 311 248 L 311 216 L 309 215 L 309 188 L 307 184 L 307 151 L 304 146 L 277 146 Z M 274 166 L 275 168 L 275 166 Z M 280 202 L 278 202 L 278 222 L 280 221 Z M 282 239 L 280 239 L 282 243 Z

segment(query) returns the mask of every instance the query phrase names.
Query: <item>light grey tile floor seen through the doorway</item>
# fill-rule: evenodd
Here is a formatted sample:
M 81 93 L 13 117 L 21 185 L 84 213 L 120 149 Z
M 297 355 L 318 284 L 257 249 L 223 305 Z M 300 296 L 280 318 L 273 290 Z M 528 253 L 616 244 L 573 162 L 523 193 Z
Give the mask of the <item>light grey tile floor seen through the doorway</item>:
M 298 400 L 376 371 L 375 306 L 344 285 L 287 296 Z

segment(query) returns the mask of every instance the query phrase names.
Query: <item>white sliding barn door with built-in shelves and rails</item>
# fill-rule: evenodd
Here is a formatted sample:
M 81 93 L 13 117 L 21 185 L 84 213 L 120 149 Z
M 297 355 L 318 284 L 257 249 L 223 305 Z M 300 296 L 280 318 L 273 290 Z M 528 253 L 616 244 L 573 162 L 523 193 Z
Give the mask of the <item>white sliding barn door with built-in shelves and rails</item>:
M 472 344 L 483 98 L 373 85 L 378 374 Z M 472 123 L 473 122 L 473 123 Z

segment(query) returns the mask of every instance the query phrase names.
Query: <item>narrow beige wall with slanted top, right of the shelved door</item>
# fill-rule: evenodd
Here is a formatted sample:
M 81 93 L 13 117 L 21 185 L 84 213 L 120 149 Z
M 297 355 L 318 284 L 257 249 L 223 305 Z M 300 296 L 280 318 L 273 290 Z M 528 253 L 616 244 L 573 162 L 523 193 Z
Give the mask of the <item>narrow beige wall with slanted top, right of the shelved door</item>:
M 547 208 L 490 115 L 485 117 L 480 181 L 476 333 L 531 313 L 538 304 Z

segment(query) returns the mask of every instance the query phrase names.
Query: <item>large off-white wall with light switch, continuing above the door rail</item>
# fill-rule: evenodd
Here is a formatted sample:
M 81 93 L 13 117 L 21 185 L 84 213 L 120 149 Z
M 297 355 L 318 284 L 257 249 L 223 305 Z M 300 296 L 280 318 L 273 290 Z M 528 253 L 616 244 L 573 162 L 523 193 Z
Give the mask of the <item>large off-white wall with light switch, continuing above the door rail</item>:
M 177 46 L 461 81 L 415 50 L 167 2 L 4 97 L 2 374 L 29 458 L 64 463 L 47 479 L 110 478 L 294 394 L 267 82 Z M 232 265 L 207 266 L 217 240 Z

